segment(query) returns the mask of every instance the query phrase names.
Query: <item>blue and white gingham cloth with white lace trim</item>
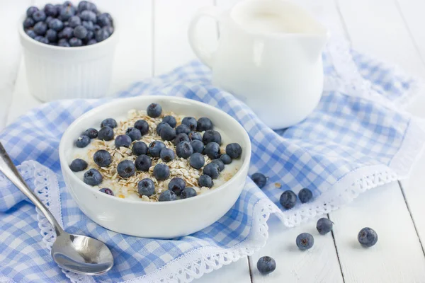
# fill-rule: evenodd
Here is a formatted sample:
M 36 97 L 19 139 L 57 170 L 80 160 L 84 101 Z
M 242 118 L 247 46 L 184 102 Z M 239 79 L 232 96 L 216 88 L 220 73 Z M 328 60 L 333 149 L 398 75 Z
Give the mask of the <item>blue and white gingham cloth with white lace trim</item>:
M 407 175 L 424 144 L 424 122 L 404 112 L 400 104 L 410 96 L 415 82 L 363 54 L 351 54 L 356 83 L 351 80 L 353 74 L 345 76 L 332 56 L 324 54 L 325 91 L 317 109 L 298 125 L 278 131 L 263 125 L 237 98 L 212 86 L 210 71 L 199 62 L 135 83 L 120 93 L 121 97 L 184 96 L 222 109 L 251 137 L 250 173 L 268 176 L 263 190 L 248 178 L 239 200 L 220 221 L 169 241 L 103 229 L 81 213 L 64 185 L 57 152 L 62 133 L 81 114 L 110 100 L 47 103 L 20 117 L 0 134 L 13 162 L 23 163 L 24 178 L 60 217 L 64 229 L 107 243 L 115 266 L 97 277 L 62 272 L 46 248 L 52 234 L 45 219 L 0 175 L 0 279 L 188 282 L 259 249 L 267 238 L 265 221 L 270 213 L 275 212 L 287 226 L 297 225 L 339 208 L 364 190 Z M 366 87 L 354 85 L 363 82 Z M 280 194 L 302 187 L 313 191 L 314 201 L 280 210 Z M 137 217 L 142 221 L 143 216 Z

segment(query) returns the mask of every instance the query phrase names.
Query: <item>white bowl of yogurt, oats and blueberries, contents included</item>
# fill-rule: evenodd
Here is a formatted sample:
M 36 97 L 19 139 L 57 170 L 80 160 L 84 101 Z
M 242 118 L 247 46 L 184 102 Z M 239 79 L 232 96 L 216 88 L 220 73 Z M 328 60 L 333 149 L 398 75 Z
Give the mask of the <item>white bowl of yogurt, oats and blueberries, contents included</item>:
M 196 100 L 114 100 L 75 120 L 60 142 L 67 190 L 84 214 L 118 233 L 176 238 L 237 201 L 251 143 L 233 117 Z

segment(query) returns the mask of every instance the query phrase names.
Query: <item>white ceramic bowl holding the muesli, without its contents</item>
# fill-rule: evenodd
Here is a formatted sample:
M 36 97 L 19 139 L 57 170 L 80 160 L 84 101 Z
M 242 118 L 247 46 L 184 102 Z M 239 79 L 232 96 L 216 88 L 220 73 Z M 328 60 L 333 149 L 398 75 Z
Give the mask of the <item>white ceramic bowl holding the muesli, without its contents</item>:
M 209 117 L 232 142 L 242 146 L 242 166 L 232 179 L 205 194 L 174 202 L 143 202 L 111 197 L 86 185 L 70 169 L 74 141 L 92 125 L 107 117 L 127 115 L 131 109 L 146 109 L 159 103 L 164 111 L 193 117 Z M 60 164 L 67 189 L 84 214 L 97 224 L 118 233 L 149 238 L 174 238 L 204 229 L 222 217 L 239 197 L 251 158 L 251 142 L 242 125 L 222 110 L 205 103 L 171 96 L 124 98 L 91 110 L 68 127 L 60 141 Z

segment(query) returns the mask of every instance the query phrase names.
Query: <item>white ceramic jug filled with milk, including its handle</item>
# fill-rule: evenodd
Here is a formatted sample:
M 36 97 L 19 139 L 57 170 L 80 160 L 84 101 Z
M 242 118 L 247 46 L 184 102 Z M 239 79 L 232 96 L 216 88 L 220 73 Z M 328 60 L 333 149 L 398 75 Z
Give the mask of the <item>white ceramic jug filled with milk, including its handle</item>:
M 204 16 L 220 27 L 214 52 L 198 40 Z M 234 93 L 268 127 L 295 125 L 319 103 L 329 32 L 303 8 L 281 0 L 245 0 L 229 11 L 205 7 L 188 35 L 193 51 L 212 69 L 212 83 Z

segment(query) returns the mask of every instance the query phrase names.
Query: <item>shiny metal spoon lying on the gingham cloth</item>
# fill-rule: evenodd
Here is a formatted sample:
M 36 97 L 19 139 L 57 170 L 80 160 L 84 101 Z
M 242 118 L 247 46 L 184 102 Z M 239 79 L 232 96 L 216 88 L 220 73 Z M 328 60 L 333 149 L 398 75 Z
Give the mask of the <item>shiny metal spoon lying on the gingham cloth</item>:
M 47 207 L 30 190 L 1 143 L 0 171 L 40 209 L 52 224 L 56 231 L 56 241 L 53 243 L 51 254 L 57 265 L 64 270 L 84 275 L 101 275 L 111 270 L 113 267 L 111 250 L 94 238 L 65 232 Z

